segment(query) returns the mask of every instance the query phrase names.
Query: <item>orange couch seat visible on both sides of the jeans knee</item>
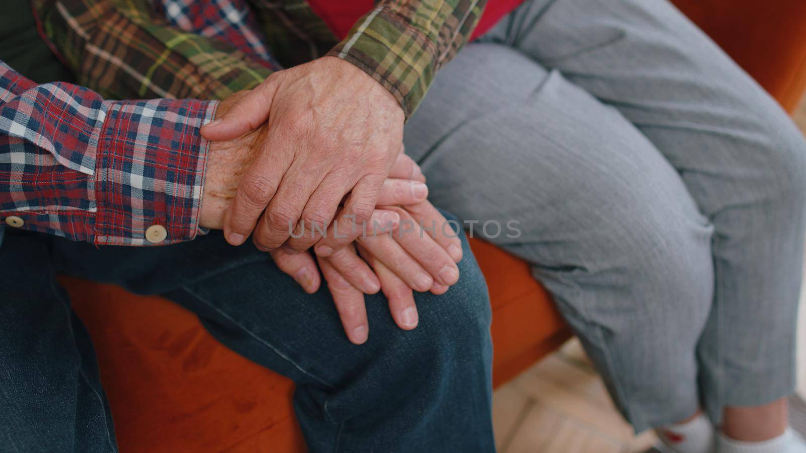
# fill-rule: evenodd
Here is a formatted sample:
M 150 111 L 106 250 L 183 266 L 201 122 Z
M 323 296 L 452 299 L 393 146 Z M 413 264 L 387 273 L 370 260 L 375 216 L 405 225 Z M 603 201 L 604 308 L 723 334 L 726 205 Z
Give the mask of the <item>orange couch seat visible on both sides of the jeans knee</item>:
M 493 380 L 571 336 L 528 264 L 479 240 L 492 299 Z M 120 451 L 305 451 L 293 382 L 226 349 L 160 297 L 62 277 L 93 338 Z

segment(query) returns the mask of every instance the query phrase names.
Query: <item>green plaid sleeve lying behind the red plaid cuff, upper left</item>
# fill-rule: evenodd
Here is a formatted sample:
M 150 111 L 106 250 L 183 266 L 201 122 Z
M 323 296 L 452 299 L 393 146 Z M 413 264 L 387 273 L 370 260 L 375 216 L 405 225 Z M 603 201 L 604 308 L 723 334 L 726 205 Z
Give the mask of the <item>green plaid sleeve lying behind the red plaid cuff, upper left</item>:
M 243 27 L 221 29 L 213 23 L 206 27 L 210 34 L 202 35 L 198 24 L 160 17 L 152 2 L 32 0 L 32 4 L 52 51 L 79 84 L 107 99 L 224 99 L 253 88 L 280 69 L 271 59 L 256 58 L 262 52 L 257 46 L 260 38 L 244 35 Z M 198 9 L 196 2 L 187 4 Z M 243 14 L 220 12 L 223 18 Z M 186 16 L 176 10 L 165 13 L 169 18 Z M 244 41 L 252 45 L 235 47 Z

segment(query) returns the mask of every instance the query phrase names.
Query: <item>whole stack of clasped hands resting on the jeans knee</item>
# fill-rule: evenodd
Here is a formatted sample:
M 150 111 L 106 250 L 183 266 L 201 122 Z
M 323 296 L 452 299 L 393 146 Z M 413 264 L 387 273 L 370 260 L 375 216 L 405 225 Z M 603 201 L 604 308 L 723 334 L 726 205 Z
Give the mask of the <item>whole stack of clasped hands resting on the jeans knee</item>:
M 369 335 L 364 294 L 383 291 L 397 325 L 413 329 L 413 290 L 445 293 L 462 247 L 403 152 L 404 120 L 387 89 L 338 58 L 273 73 L 202 127 L 199 224 L 232 245 L 251 235 L 308 293 L 321 269 L 352 343 Z

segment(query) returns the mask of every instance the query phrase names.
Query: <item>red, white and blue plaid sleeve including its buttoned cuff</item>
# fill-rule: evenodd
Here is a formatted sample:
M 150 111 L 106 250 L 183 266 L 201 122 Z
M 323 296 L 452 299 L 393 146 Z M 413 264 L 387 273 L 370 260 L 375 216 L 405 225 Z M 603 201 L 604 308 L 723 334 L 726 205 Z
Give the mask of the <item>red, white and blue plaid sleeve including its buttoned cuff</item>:
M 217 105 L 106 101 L 0 61 L 0 220 L 96 244 L 193 239 L 208 149 L 199 128 Z

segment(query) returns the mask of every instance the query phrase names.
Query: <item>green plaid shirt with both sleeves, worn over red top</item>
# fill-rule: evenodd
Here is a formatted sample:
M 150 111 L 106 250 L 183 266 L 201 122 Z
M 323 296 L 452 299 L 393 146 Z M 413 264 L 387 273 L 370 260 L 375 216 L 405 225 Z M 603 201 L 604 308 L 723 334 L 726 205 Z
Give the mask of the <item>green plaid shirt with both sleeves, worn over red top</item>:
M 272 73 L 221 39 L 172 27 L 148 0 L 32 2 L 53 50 L 81 85 L 105 98 L 223 99 Z M 248 0 L 281 64 L 347 60 L 384 85 L 407 118 L 465 44 L 485 2 L 383 0 L 338 42 L 305 0 Z

